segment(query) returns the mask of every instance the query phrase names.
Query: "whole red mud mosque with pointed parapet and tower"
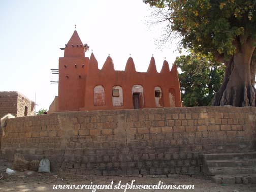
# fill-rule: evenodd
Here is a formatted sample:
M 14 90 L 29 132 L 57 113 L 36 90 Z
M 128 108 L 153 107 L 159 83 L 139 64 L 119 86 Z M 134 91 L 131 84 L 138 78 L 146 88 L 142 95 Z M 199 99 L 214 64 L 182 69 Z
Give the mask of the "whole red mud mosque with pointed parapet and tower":
M 181 107 L 180 85 L 175 65 L 171 71 L 165 60 L 160 73 L 151 57 L 147 72 L 136 72 L 132 57 L 124 71 L 114 69 L 107 57 L 98 69 L 94 54 L 85 57 L 85 48 L 77 31 L 59 58 L 58 97 L 49 112 L 108 109 Z

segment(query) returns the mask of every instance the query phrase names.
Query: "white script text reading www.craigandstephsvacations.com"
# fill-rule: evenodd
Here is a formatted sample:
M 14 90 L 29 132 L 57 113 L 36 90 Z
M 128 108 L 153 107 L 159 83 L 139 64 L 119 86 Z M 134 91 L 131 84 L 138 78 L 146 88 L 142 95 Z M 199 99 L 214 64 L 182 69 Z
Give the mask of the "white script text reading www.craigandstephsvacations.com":
M 183 185 L 175 185 L 175 184 L 165 184 L 162 181 L 158 181 L 157 184 L 135 184 L 135 180 L 132 180 L 131 183 L 122 183 L 119 181 L 117 184 L 114 184 L 114 181 L 111 181 L 110 184 L 81 184 L 81 185 L 53 185 L 53 189 L 89 189 L 92 192 L 96 192 L 98 189 L 123 189 L 123 192 L 129 189 L 157 189 L 157 190 L 172 190 L 172 189 L 195 189 L 194 185 L 191 184 L 183 184 Z

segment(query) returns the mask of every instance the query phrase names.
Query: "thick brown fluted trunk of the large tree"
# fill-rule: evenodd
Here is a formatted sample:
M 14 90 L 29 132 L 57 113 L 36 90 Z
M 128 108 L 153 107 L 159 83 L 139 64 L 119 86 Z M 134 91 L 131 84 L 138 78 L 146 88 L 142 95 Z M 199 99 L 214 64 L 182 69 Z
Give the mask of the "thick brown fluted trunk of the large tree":
M 236 54 L 226 63 L 223 84 L 214 96 L 213 106 L 255 106 L 256 62 L 251 60 L 253 51 L 252 42 L 239 45 Z

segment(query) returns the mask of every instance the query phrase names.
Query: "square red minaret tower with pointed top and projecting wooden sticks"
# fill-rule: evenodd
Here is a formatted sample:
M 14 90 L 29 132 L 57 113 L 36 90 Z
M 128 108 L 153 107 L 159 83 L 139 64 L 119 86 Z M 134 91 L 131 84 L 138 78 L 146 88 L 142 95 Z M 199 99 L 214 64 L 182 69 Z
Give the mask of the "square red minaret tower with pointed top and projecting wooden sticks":
M 79 111 L 84 106 L 84 85 L 89 58 L 77 31 L 65 45 L 64 57 L 59 57 L 59 111 Z

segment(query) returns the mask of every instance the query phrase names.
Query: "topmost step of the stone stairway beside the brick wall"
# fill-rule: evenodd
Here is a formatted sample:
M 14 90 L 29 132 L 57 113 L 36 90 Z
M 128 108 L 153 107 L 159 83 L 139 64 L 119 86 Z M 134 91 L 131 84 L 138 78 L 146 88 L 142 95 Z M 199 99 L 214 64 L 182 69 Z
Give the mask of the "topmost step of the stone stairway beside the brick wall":
M 213 154 L 204 154 L 204 160 L 225 160 L 225 159 L 253 159 L 256 158 L 256 152 L 243 152 L 243 153 L 213 153 Z

